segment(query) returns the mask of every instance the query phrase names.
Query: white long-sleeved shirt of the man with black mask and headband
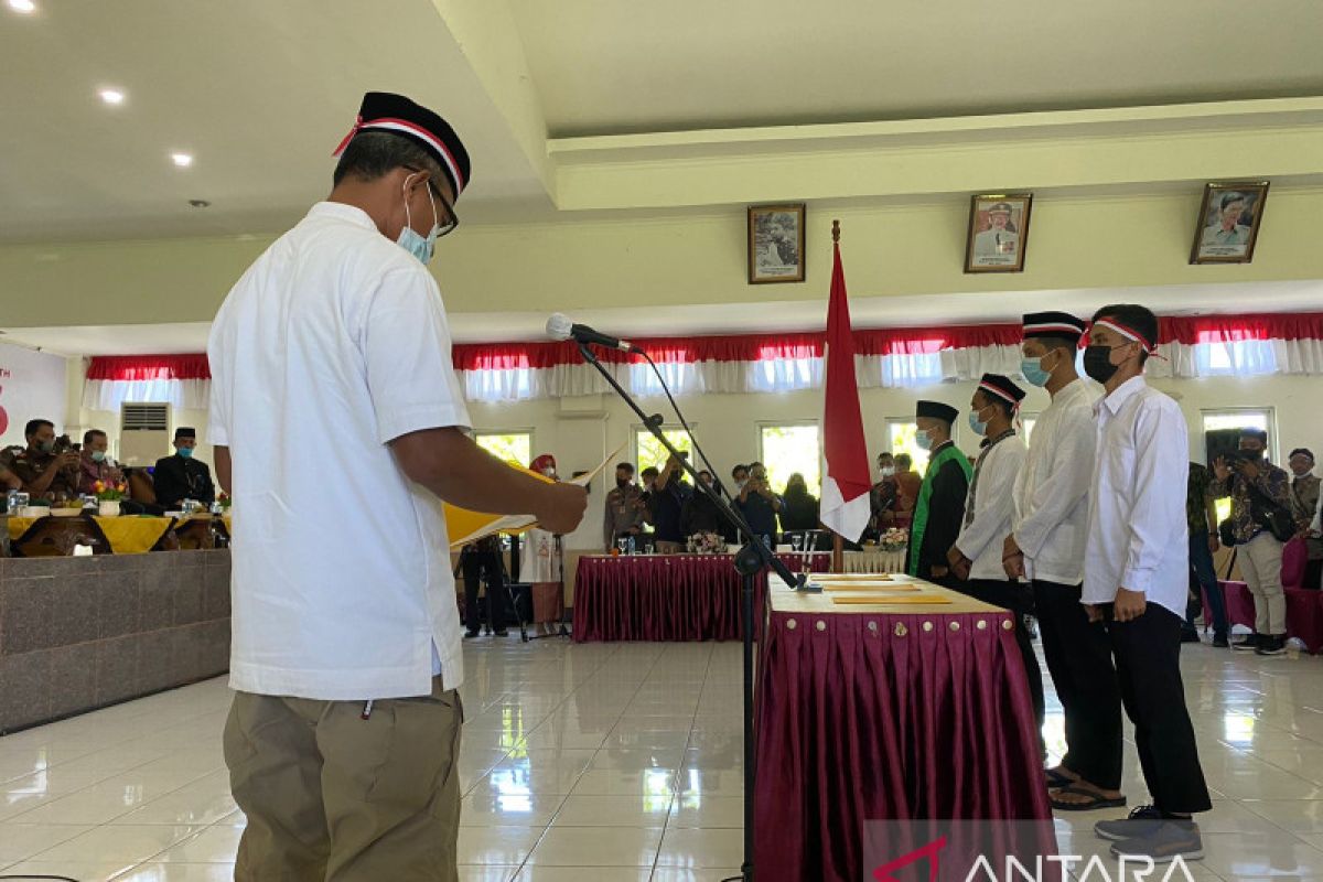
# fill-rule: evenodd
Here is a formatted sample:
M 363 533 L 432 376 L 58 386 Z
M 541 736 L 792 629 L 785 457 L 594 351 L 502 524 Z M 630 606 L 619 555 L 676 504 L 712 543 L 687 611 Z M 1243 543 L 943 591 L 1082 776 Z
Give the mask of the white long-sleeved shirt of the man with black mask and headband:
M 1132 377 L 1097 405 L 1098 451 L 1089 493 L 1084 603 L 1142 591 L 1185 618 L 1189 430 L 1180 406 Z

